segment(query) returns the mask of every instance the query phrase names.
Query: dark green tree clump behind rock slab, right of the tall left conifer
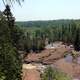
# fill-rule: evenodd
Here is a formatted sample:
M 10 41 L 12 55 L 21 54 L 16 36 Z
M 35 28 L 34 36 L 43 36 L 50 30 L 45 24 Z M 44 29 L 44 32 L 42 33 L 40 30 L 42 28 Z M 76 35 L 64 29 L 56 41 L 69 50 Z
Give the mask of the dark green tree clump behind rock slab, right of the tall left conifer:
M 40 52 L 45 48 L 45 37 L 40 31 L 34 33 L 26 32 L 24 37 L 19 41 L 19 50 L 26 52 Z

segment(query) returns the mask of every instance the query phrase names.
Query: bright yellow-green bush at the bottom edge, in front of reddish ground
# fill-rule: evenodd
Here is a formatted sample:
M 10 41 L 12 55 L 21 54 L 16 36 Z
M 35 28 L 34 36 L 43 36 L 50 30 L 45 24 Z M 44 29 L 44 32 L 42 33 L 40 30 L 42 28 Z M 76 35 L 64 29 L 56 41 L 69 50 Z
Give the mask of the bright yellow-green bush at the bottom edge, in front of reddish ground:
M 65 73 L 48 67 L 42 75 L 42 80 L 72 80 Z

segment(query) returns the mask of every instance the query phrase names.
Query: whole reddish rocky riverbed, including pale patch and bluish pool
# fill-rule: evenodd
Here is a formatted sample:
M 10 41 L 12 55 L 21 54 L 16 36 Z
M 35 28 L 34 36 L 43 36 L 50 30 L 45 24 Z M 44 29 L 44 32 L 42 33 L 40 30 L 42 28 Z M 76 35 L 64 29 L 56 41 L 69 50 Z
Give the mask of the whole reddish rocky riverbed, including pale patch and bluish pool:
M 24 59 L 26 63 L 23 64 L 25 74 L 23 80 L 40 80 L 40 74 L 44 72 L 47 66 L 63 71 L 70 75 L 73 80 L 80 80 L 80 57 L 78 56 L 77 62 L 74 63 L 70 54 L 71 50 L 69 46 L 59 43 L 56 48 L 45 49 L 38 54 L 30 53 Z M 64 57 L 65 53 L 69 54 Z

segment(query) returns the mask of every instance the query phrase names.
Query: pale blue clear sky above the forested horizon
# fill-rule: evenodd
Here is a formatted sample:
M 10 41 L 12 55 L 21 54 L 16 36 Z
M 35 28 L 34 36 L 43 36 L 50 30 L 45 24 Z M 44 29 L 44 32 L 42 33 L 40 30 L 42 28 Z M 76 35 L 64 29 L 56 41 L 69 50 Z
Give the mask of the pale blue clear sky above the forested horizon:
M 4 10 L 0 0 L 0 10 Z M 80 0 L 25 0 L 11 7 L 16 21 L 80 19 Z

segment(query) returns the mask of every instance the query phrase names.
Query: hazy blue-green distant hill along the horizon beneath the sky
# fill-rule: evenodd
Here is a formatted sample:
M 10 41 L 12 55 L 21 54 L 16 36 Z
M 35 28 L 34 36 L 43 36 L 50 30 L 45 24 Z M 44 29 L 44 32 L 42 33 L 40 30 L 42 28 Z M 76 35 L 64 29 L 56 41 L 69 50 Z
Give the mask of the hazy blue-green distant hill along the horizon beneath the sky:
M 48 21 L 17 21 L 16 25 L 20 27 L 53 27 L 60 26 L 64 24 L 69 24 L 74 21 L 80 24 L 80 20 L 48 20 Z

